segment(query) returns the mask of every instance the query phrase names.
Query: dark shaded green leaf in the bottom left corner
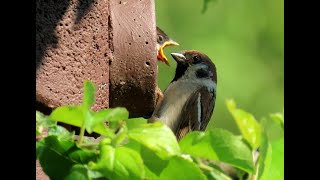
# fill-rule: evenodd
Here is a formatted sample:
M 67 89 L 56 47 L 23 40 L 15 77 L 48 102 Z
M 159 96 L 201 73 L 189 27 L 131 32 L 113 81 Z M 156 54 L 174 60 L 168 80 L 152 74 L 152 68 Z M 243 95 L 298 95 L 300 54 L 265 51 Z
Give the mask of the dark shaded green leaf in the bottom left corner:
M 44 141 L 42 153 L 39 154 L 41 167 L 50 179 L 63 179 L 74 164 L 65 157 L 65 153 L 75 144 L 72 141 L 59 141 L 57 136 L 48 136 Z

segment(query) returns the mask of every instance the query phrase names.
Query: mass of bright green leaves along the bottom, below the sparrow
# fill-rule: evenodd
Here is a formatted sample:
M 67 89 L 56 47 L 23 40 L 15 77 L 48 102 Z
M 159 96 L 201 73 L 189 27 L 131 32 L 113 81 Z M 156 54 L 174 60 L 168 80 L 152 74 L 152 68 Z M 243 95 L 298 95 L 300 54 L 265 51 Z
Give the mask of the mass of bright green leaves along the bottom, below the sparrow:
M 214 162 L 239 175 L 283 179 L 283 138 L 269 142 L 262 125 L 233 101 L 228 108 L 240 136 L 212 129 L 191 132 L 178 142 L 166 125 L 130 119 L 125 108 L 93 112 L 95 87 L 89 81 L 84 87 L 81 105 L 58 107 L 49 116 L 36 112 L 36 133 L 48 128 L 48 135 L 36 143 L 37 159 L 50 179 L 231 179 Z M 80 127 L 80 134 L 57 122 Z M 90 140 L 85 131 L 99 133 L 101 139 Z M 258 147 L 260 157 L 254 162 Z

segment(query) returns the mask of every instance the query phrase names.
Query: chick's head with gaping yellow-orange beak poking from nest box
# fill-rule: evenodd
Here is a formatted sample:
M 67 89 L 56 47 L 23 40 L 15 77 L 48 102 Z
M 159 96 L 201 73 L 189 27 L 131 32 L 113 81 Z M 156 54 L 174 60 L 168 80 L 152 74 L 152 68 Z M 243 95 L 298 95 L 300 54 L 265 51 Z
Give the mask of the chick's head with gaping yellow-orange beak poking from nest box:
M 157 59 L 169 65 L 167 57 L 164 55 L 163 49 L 167 46 L 178 46 L 179 44 L 164 33 L 159 27 L 157 27 Z

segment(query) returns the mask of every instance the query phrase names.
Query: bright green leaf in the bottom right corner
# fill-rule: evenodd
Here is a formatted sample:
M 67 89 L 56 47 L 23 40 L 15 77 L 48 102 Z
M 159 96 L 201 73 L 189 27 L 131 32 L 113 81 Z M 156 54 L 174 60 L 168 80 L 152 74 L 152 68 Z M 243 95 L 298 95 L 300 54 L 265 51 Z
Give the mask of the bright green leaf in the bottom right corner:
M 264 169 L 260 172 L 259 168 L 259 173 L 261 173 L 259 177 L 261 180 L 282 180 L 284 179 L 284 138 L 271 142 L 270 146 L 266 157 L 260 162 L 264 164 Z

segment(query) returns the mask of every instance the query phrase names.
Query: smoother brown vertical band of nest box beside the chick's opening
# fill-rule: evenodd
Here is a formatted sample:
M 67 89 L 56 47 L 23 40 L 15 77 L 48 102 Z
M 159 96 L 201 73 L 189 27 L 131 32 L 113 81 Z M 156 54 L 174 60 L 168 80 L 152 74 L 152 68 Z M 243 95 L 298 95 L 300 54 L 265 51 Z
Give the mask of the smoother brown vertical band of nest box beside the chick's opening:
M 110 107 L 131 117 L 151 116 L 157 80 L 153 0 L 111 1 L 114 58 L 110 64 Z

